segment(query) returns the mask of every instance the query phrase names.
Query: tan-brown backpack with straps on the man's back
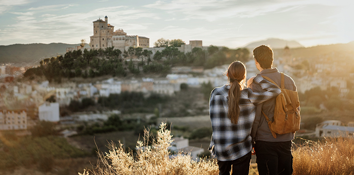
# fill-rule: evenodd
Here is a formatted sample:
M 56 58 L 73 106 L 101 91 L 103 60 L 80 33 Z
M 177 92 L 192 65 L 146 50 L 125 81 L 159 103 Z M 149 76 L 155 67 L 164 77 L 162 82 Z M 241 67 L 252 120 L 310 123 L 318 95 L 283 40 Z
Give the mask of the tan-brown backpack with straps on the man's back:
M 264 79 L 275 84 L 272 79 L 262 76 Z M 278 86 L 279 87 L 279 86 Z M 299 97 L 296 91 L 285 89 L 284 87 L 284 73 L 281 73 L 281 87 L 282 92 L 277 96 L 274 108 L 274 121 L 272 122 L 262 110 L 265 120 L 271 129 L 274 138 L 277 134 L 295 133 L 300 129 L 300 106 Z

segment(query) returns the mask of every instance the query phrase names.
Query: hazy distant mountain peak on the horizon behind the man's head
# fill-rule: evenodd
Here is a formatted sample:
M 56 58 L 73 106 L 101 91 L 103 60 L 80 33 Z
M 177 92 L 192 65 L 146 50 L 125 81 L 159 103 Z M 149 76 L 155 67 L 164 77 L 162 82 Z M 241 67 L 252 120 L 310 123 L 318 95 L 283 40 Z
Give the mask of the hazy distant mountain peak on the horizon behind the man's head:
M 245 45 L 244 47 L 249 48 L 251 50 L 253 50 L 255 47 L 259 46 L 259 45 L 269 45 L 271 46 L 273 49 L 276 48 L 284 48 L 285 46 L 288 46 L 290 48 L 298 48 L 298 47 L 303 47 L 303 45 L 301 45 L 300 43 L 298 43 L 297 41 L 288 41 L 288 40 L 284 40 L 284 39 L 277 39 L 277 38 L 269 38 L 267 40 L 262 40 L 262 41 L 256 41 L 256 42 L 251 42 L 247 45 Z

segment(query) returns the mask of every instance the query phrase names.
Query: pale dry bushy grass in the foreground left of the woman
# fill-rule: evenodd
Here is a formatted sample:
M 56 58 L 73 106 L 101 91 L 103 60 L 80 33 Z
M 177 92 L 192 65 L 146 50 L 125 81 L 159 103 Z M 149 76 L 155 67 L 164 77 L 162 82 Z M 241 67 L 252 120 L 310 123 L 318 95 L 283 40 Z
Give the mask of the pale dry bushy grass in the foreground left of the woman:
M 171 133 L 166 130 L 166 124 L 160 125 L 155 140 L 149 140 L 150 134 L 147 131 L 144 141 L 137 142 L 137 155 L 132 152 L 125 152 L 122 144 L 115 147 L 111 144 L 109 153 L 99 154 L 99 164 L 91 171 L 92 174 L 218 174 L 218 167 L 214 159 L 201 159 L 200 162 L 193 161 L 191 156 L 178 154 L 170 158 L 168 147 L 172 142 Z M 151 145 L 149 144 L 151 143 Z M 79 173 L 81 175 L 81 173 Z M 82 175 L 88 175 L 84 171 Z

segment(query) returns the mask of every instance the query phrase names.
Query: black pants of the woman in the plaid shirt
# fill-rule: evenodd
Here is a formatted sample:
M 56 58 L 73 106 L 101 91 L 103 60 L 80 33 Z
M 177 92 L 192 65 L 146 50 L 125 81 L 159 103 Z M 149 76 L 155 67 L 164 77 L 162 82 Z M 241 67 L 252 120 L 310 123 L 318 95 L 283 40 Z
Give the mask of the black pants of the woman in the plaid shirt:
M 232 165 L 232 175 L 248 175 L 249 165 L 251 163 L 251 152 L 246 155 L 230 161 L 220 161 L 217 160 L 217 165 L 219 166 L 219 175 L 230 175 L 231 165 Z

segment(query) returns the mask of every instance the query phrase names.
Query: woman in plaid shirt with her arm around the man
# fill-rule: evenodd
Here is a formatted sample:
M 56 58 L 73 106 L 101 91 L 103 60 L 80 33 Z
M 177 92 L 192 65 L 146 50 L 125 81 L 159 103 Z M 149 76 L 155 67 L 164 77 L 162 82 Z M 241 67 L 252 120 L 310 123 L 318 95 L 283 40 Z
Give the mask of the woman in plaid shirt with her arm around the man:
M 241 62 L 233 62 L 226 73 L 229 85 L 215 88 L 210 95 L 209 113 L 213 134 L 209 151 L 216 156 L 219 174 L 248 174 L 251 160 L 251 128 L 258 103 L 280 94 L 274 84 L 257 75 L 265 92 L 244 89 L 246 68 Z

